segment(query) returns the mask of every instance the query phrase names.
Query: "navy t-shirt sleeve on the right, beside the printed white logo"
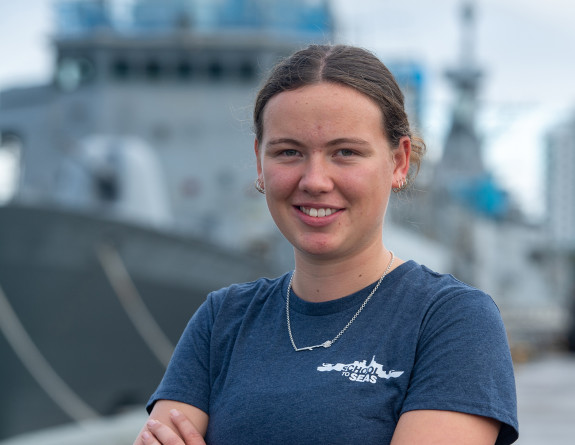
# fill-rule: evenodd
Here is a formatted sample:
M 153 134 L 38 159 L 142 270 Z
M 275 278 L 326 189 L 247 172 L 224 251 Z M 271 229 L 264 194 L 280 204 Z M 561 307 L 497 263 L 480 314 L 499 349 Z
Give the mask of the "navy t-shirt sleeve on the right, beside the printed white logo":
M 422 324 L 402 413 L 457 411 L 499 420 L 497 444 L 518 437 L 513 364 L 499 309 L 464 291 L 432 305 Z

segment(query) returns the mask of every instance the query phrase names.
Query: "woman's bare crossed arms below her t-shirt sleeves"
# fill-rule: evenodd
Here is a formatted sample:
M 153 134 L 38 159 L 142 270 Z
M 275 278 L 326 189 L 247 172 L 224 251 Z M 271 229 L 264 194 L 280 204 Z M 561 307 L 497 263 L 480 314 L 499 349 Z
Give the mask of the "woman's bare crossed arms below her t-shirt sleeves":
M 205 445 L 208 415 L 185 403 L 160 400 L 134 445 Z M 501 424 L 453 411 L 418 410 L 403 414 L 391 445 L 493 445 Z

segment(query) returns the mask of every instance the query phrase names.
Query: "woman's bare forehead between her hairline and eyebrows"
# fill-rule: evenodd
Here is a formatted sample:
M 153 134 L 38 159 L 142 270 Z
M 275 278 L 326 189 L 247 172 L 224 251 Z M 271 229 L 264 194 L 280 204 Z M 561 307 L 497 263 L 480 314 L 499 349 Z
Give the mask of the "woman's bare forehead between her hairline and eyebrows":
M 263 112 L 265 130 L 303 129 L 325 126 L 332 131 L 354 127 L 383 131 L 383 115 L 369 96 L 356 89 L 330 82 L 306 85 L 276 94 Z M 297 128 L 295 128 L 297 127 Z

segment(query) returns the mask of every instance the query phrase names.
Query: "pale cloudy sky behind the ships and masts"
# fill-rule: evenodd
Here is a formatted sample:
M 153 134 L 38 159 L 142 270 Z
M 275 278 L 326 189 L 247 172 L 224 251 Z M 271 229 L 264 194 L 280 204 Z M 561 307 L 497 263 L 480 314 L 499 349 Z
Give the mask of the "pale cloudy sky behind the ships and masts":
M 461 1 L 332 3 L 338 41 L 366 47 L 384 62 L 423 66 L 421 130 L 429 157 L 438 159 L 453 99 L 443 73 L 459 57 Z M 0 0 L 0 90 L 49 79 L 51 4 Z M 475 57 L 484 71 L 478 119 L 484 158 L 501 185 L 538 217 L 544 211 L 545 134 L 575 110 L 575 2 L 476 0 L 475 7 Z

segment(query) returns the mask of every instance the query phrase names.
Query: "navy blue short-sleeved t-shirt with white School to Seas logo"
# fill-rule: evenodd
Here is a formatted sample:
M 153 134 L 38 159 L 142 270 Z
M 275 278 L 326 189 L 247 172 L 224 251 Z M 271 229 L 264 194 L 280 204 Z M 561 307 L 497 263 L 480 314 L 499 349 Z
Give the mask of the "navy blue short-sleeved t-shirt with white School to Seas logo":
M 160 399 L 209 415 L 208 444 L 385 444 L 407 411 L 502 422 L 517 439 L 513 365 L 485 293 L 409 261 L 393 270 L 330 347 L 294 351 L 290 274 L 211 293 L 190 320 L 148 409 Z M 310 303 L 292 292 L 298 347 L 331 340 L 375 283 Z

